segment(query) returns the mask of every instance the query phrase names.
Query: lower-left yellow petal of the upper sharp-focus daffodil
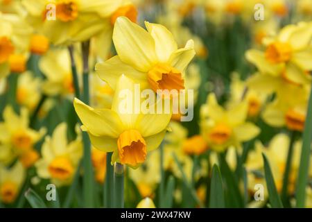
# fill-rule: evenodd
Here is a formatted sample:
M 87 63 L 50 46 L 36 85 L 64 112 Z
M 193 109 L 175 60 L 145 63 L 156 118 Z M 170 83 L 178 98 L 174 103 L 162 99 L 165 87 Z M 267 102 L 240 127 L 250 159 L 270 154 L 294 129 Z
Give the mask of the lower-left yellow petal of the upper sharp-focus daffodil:
M 114 56 L 103 63 L 97 63 L 95 69 L 96 74 L 107 82 L 112 89 L 116 88 L 117 81 L 122 74 L 129 76 L 136 83 L 140 83 L 142 88 L 148 85 L 146 74 L 121 62 L 119 56 Z

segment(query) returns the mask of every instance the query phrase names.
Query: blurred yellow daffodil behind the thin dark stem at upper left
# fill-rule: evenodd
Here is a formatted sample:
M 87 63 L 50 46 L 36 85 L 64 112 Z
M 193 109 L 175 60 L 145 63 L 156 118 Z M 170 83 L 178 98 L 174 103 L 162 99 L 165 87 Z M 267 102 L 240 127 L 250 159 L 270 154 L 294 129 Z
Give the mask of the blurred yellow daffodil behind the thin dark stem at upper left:
M 81 71 L 81 63 L 76 60 L 78 73 Z M 46 76 L 42 84 L 42 90 L 50 96 L 72 95 L 73 76 L 71 74 L 71 62 L 69 52 L 65 49 L 53 49 L 48 51 L 40 60 L 39 67 Z

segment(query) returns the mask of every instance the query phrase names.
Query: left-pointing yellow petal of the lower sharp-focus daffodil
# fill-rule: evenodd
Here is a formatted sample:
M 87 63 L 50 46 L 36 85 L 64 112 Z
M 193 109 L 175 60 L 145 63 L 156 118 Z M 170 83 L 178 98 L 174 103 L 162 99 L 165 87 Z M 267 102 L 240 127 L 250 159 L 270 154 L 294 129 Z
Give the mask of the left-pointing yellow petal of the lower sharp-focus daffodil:
M 107 109 L 94 110 L 78 99 L 73 101 L 73 106 L 83 125 L 93 135 L 116 138 L 122 132 L 122 123 L 116 112 Z

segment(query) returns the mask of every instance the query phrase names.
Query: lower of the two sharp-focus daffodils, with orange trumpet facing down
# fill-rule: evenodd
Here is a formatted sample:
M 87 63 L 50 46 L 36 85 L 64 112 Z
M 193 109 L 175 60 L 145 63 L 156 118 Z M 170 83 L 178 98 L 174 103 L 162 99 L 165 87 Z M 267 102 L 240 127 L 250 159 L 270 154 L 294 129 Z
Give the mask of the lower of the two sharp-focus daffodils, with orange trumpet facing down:
M 119 93 L 125 90 L 135 98 L 135 83 L 130 78 L 121 76 L 116 85 L 111 110 L 93 109 L 78 99 L 74 100 L 73 105 L 83 122 L 82 129 L 89 133 L 95 148 L 114 152 L 112 163 L 138 167 L 146 160 L 148 151 L 158 148 L 162 142 L 171 114 L 125 112 L 124 99 L 119 98 Z

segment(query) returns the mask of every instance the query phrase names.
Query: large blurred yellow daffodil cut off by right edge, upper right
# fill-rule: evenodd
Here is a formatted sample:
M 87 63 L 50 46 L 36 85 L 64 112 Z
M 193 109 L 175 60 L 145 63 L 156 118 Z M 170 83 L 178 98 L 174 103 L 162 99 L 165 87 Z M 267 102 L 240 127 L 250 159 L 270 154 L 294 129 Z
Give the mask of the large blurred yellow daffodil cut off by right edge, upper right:
M 294 84 L 309 84 L 309 71 L 312 70 L 311 37 L 311 22 L 288 25 L 276 37 L 263 42 L 266 51 L 250 49 L 246 58 L 263 74 L 284 78 Z

